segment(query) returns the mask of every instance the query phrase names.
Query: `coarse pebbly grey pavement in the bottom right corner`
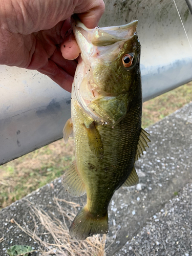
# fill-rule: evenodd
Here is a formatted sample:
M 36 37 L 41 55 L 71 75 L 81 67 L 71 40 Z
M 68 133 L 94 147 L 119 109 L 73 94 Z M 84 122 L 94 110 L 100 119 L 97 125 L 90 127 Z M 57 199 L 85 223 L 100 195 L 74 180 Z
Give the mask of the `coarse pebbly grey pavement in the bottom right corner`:
M 115 256 L 192 255 L 192 184 L 185 185 L 179 195 L 150 217 L 131 241 Z

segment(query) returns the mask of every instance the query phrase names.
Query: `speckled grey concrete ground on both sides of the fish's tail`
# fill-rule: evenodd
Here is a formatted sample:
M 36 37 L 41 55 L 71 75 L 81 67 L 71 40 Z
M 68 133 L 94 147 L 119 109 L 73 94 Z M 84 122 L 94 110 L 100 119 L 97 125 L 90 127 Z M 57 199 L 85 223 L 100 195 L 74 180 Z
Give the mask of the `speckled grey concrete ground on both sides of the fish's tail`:
M 106 246 L 113 244 L 107 255 L 192 255 L 192 103 L 146 130 L 152 142 L 136 163 L 140 183 L 120 188 L 109 206 Z M 21 226 L 26 223 L 33 229 L 29 201 L 61 218 L 53 204 L 54 196 L 80 204 L 86 201 L 86 196 L 70 197 L 63 190 L 61 179 L 57 179 L 53 185 L 6 207 L 0 212 L 0 239 L 4 238 L 0 255 L 7 255 L 6 249 L 14 244 L 38 248 L 10 220 L 14 218 Z M 38 232 L 41 231 L 39 225 Z M 50 241 L 49 235 L 44 239 Z

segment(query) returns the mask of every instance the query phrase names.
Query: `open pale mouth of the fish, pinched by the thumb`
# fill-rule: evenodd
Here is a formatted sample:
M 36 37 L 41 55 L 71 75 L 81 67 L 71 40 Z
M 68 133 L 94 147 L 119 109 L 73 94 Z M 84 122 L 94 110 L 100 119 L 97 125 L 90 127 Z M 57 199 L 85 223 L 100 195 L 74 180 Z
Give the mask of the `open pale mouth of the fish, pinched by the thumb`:
M 109 46 L 115 44 L 115 42 L 129 39 L 136 33 L 138 24 L 138 20 L 133 20 L 131 23 L 126 25 L 88 29 L 80 22 L 77 15 L 72 16 L 71 22 L 74 34 L 76 34 L 76 31 L 83 31 L 87 40 L 97 47 Z M 76 38 L 76 40 L 78 42 L 78 38 Z

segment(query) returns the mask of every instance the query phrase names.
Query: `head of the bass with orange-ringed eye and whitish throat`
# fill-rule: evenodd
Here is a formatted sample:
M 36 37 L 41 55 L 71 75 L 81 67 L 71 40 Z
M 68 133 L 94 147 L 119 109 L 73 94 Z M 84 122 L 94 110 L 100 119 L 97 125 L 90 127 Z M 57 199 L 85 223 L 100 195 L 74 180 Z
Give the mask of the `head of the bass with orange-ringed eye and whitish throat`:
M 88 29 L 76 17 L 72 19 L 81 52 L 74 92 L 81 108 L 97 121 L 114 125 L 126 114 L 140 72 L 137 23 Z

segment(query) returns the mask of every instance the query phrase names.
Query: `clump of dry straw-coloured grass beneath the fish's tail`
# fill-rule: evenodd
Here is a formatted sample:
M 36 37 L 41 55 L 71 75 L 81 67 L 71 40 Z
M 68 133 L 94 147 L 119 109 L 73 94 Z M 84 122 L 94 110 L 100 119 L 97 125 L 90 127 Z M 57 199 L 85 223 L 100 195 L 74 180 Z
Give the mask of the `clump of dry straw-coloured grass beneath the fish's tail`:
M 31 204 L 31 216 L 34 221 L 34 230 L 30 230 L 26 225 L 25 228 L 20 226 L 15 220 L 15 224 L 19 226 L 25 233 L 28 234 L 36 243 L 39 245 L 39 250 L 42 256 L 56 255 L 56 256 L 105 256 L 105 240 L 106 235 L 96 235 L 87 238 L 84 241 L 77 241 L 70 238 L 69 230 L 66 222 L 72 223 L 74 217 L 78 212 L 79 204 L 68 202 L 66 200 L 55 198 L 54 202 L 56 204 L 57 210 L 62 217 L 62 221 L 59 218 L 55 218 L 53 214 L 50 215 L 44 210 L 35 207 Z M 67 203 L 67 208 L 63 208 L 59 202 Z M 37 227 L 34 216 L 40 221 L 45 229 L 44 234 L 51 236 L 49 241 L 54 241 L 53 243 L 46 242 L 43 240 L 42 233 L 38 234 L 39 224 Z

